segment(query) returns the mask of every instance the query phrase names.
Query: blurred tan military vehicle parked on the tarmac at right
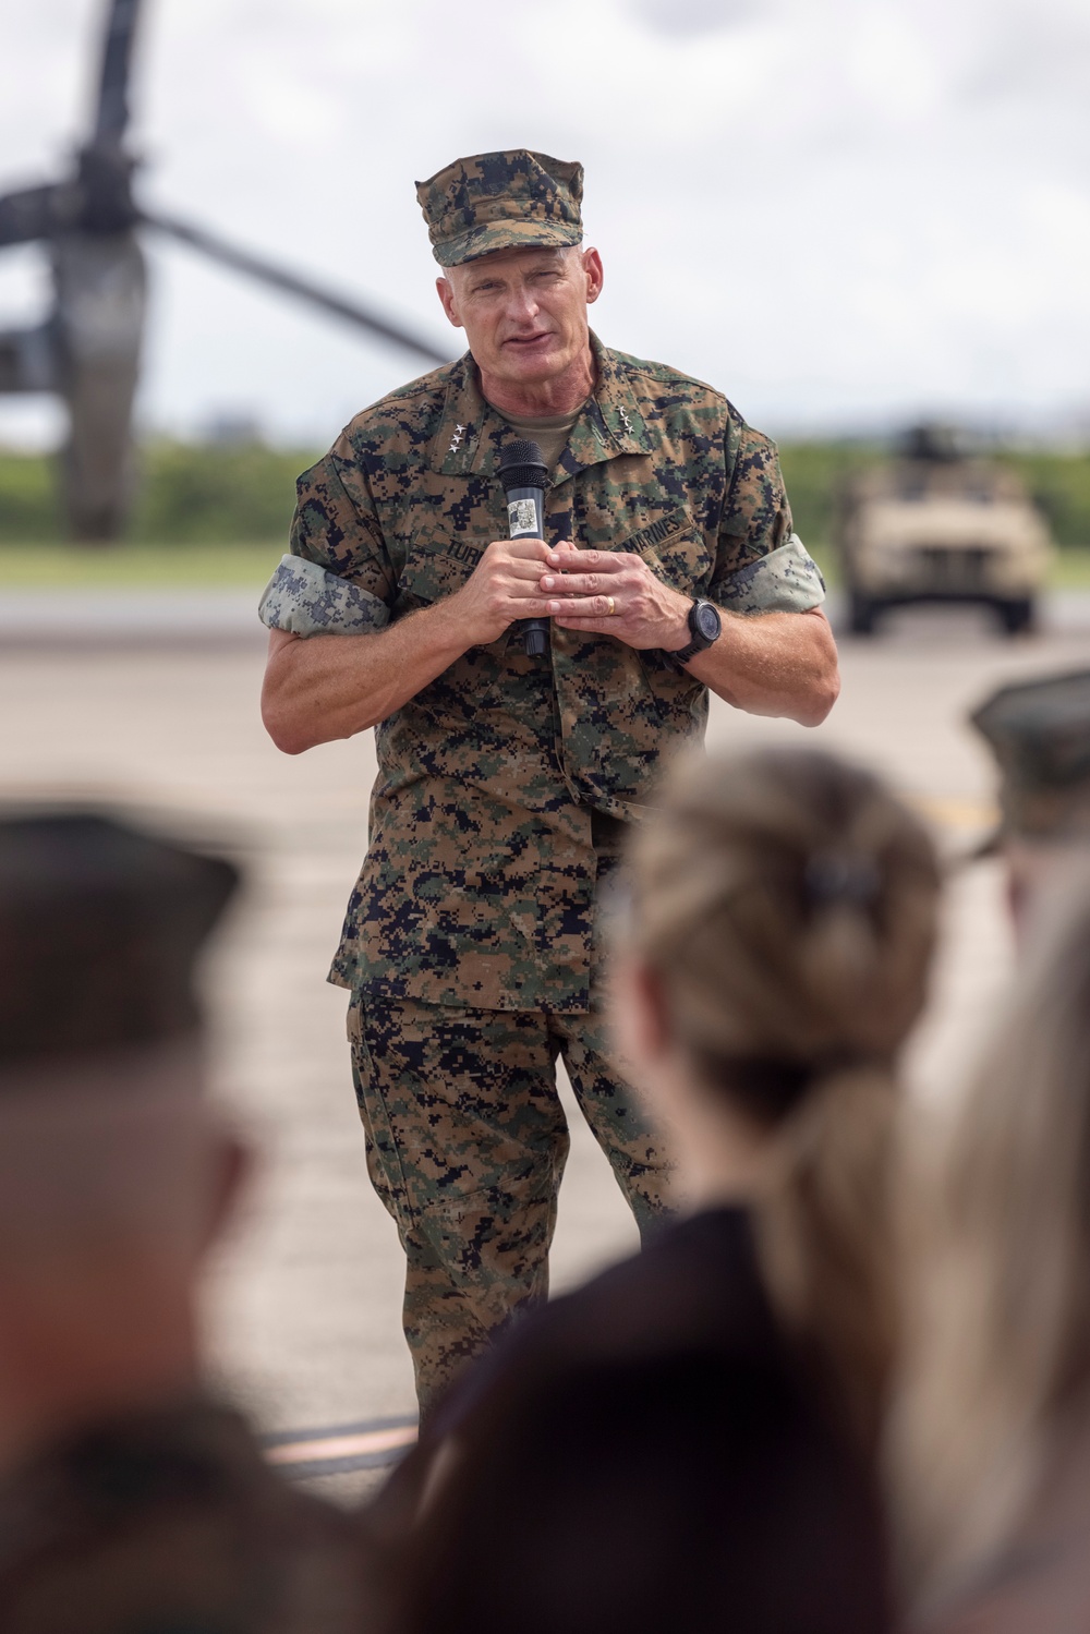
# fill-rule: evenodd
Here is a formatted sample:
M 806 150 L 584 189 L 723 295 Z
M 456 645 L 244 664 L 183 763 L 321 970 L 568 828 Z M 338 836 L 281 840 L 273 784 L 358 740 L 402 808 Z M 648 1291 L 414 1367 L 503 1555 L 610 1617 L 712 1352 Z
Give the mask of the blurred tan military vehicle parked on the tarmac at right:
M 1016 474 L 941 426 L 914 428 L 900 458 L 848 479 L 835 544 L 855 636 L 910 601 L 985 603 L 1016 636 L 1033 627 L 1051 554 Z

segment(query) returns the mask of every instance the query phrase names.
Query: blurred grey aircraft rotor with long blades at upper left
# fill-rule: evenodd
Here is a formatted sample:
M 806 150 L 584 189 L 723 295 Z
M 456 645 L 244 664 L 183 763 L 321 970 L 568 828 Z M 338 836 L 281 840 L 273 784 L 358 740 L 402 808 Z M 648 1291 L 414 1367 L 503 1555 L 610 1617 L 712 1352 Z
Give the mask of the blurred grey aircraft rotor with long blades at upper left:
M 108 0 L 95 123 L 72 173 L 0 198 L 0 248 L 44 243 L 54 283 L 52 310 L 41 324 L 0 332 L 0 392 L 64 399 L 64 507 L 72 534 L 88 542 L 119 536 L 132 490 L 132 399 L 147 304 L 141 230 L 180 240 L 430 364 L 449 361 L 427 337 L 353 297 L 191 222 L 144 209 L 132 193 L 136 158 L 126 145 L 139 10 L 141 0 Z

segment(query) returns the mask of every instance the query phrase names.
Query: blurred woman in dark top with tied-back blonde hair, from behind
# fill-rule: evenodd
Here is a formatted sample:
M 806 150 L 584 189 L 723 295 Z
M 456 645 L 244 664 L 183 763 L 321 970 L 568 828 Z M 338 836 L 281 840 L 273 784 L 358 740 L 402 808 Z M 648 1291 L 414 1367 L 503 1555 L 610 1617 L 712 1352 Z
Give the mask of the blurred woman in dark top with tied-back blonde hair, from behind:
M 632 869 L 621 1042 L 693 1212 L 438 1409 L 373 1510 L 384 1634 L 889 1626 L 892 1074 L 931 845 L 781 750 L 675 775 Z

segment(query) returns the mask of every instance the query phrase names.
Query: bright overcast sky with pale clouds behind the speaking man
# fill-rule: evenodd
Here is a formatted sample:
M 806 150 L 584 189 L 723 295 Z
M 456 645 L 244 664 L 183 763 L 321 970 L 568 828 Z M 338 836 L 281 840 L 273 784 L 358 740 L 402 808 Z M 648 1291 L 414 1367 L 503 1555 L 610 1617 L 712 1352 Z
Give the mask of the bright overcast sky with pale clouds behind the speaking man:
M 0 10 L 0 183 L 69 162 L 103 10 Z M 526 145 L 587 167 L 598 333 L 773 433 L 1090 422 L 1088 0 L 144 0 L 134 106 L 149 206 L 451 356 L 413 180 Z M 149 250 L 149 425 L 324 444 L 420 373 Z M 39 252 L 3 252 L 0 324 L 46 299 Z M 0 400 L 0 438 L 49 425 Z

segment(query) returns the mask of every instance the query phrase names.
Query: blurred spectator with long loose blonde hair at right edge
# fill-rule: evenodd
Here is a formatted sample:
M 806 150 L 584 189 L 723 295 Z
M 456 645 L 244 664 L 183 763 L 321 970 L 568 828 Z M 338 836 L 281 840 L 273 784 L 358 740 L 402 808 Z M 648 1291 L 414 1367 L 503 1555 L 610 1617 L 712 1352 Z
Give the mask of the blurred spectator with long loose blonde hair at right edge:
M 1085 859 L 1048 909 L 918 1199 L 891 1467 L 928 1634 L 1090 1626 Z

